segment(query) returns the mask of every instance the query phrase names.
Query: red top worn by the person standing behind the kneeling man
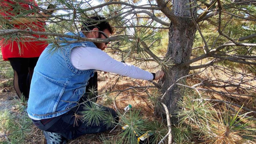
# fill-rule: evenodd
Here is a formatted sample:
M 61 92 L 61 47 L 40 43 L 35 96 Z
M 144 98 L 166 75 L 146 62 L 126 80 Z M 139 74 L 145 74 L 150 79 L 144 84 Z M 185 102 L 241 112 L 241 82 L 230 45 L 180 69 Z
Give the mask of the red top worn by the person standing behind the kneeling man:
M 22 9 L 33 9 L 32 6 L 28 5 L 28 3 L 32 3 L 37 6 L 34 0 L 23 0 L 26 2 L 15 2 L 13 0 L 3 0 L 0 3 L 0 14 L 8 20 L 10 16 L 15 16 L 13 9 L 15 9 L 15 5 L 20 5 Z M 17 13 L 19 14 L 19 13 Z M 26 24 L 14 24 L 10 29 L 19 29 L 19 30 L 32 30 L 37 32 L 45 32 L 44 28 L 45 23 L 43 22 L 31 22 Z M 39 41 L 37 38 L 47 38 L 47 36 L 38 36 L 38 35 L 30 35 L 23 34 L 25 36 L 34 36 L 35 38 L 22 38 L 22 40 L 8 40 L 0 37 L 0 46 L 3 55 L 3 60 L 8 60 L 8 58 L 13 57 L 22 57 L 22 58 L 30 58 L 30 57 L 39 57 L 40 54 L 47 47 L 48 43 L 46 41 Z M 11 35 L 9 35 L 11 36 Z

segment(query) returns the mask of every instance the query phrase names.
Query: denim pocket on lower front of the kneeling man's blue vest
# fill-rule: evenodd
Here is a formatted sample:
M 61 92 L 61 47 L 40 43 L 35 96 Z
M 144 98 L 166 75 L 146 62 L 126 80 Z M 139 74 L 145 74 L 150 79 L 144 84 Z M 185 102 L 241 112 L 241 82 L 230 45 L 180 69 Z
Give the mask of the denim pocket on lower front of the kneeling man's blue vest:
M 77 103 L 76 102 L 78 102 L 79 101 L 79 99 L 82 97 L 82 95 L 85 93 L 85 87 L 79 87 L 79 88 L 77 88 L 74 92 L 73 92 L 73 95 L 72 95 L 72 97 L 68 100 L 69 102 L 68 102 L 68 105 L 67 105 L 67 107 L 71 107 L 71 105 L 72 105 L 72 107 L 73 106 L 75 106 Z

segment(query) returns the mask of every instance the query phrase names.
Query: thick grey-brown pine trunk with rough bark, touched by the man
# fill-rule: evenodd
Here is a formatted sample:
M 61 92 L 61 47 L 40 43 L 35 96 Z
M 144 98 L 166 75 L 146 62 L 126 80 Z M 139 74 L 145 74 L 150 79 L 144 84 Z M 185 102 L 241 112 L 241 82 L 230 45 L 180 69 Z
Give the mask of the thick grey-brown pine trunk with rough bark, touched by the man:
M 193 13 L 196 13 L 195 8 L 192 8 L 191 10 Z M 173 0 L 173 12 L 179 17 L 177 17 L 176 22 L 171 22 L 170 24 L 169 44 L 166 57 L 172 57 L 175 66 L 170 68 L 169 74 L 166 74 L 165 78 L 162 80 L 163 93 L 165 93 L 165 91 L 179 78 L 188 75 L 189 66 L 181 67 L 176 65 L 190 60 L 196 32 L 196 27 L 191 18 L 184 18 L 191 17 L 189 0 Z M 181 82 L 185 82 L 185 79 L 179 81 L 179 83 Z M 162 102 L 168 107 L 169 113 L 174 115 L 174 112 L 179 110 L 176 103 L 181 98 L 181 88 L 174 85 L 174 87 L 166 93 Z M 160 108 L 158 107 L 157 111 L 159 112 L 159 110 Z

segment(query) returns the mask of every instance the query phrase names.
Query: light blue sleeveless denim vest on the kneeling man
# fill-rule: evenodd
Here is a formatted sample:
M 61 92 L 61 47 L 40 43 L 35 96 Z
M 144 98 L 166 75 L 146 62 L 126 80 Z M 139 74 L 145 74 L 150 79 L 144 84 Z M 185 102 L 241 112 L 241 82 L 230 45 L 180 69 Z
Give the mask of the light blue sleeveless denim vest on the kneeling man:
M 67 35 L 77 34 L 69 32 Z M 85 37 L 82 32 L 79 35 Z M 68 112 L 67 109 L 77 105 L 76 102 L 85 93 L 88 80 L 94 75 L 93 69 L 78 70 L 70 60 L 71 49 L 79 46 L 96 47 L 94 43 L 86 41 L 60 45 L 61 49 L 54 52 L 51 50 L 53 44 L 49 44 L 34 68 L 27 109 L 34 118 L 53 118 Z

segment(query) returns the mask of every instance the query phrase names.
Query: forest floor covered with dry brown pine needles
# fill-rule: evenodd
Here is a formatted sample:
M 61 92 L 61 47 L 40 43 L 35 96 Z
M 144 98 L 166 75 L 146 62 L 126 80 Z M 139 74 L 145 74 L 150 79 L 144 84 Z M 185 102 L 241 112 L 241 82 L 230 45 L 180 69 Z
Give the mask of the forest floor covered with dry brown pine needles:
M 149 71 L 152 71 L 154 69 L 152 66 L 146 66 L 146 68 L 149 68 Z M 237 68 L 238 71 L 242 71 L 243 68 Z M 127 77 L 120 77 L 119 80 L 116 83 L 117 80 L 117 75 L 113 74 L 99 74 L 98 75 L 98 92 L 104 92 L 106 89 L 108 90 L 124 90 L 127 89 L 131 86 L 148 86 L 149 82 L 148 81 L 142 81 L 142 80 L 134 80 L 131 78 Z M 232 76 L 233 78 L 239 77 L 238 75 Z M 221 70 L 212 70 L 211 68 L 208 68 L 204 72 L 197 74 L 196 76 L 193 76 L 193 78 L 187 78 L 187 85 L 192 86 L 194 84 L 198 84 L 199 82 L 195 79 L 211 79 L 211 80 L 216 80 L 216 79 L 222 79 L 222 80 L 229 80 L 230 76 L 227 76 L 225 73 L 223 73 Z M 9 110 L 11 112 L 11 115 L 13 115 L 13 119 L 16 120 L 16 123 L 19 122 L 18 119 L 20 119 L 20 114 L 24 114 L 24 112 L 20 112 L 17 108 L 17 96 L 16 92 L 12 86 L 12 78 L 6 78 L 3 76 L 0 79 L 0 111 L 3 110 Z M 116 84 L 115 84 L 116 83 Z M 251 85 L 256 85 L 256 82 L 250 82 Z M 152 84 L 150 84 L 152 85 Z M 203 87 L 202 87 L 203 88 Z M 233 93 L 247 93 L 243 89 L 239 88 L 234 88 L 234 87 L 229 87 L 229 88 L 213 88 L 213 90 L 217 91 L 223 91 L 223 92 L 233 92 Z M 217 99 L 217 100 L 224 100 L 228 101 L 231 103 L 235 103 L 238 105 L 244 105 L 245 107 L 256 111 L 255 107 L 255 99 L 252 99 L 251 97 L 247 96 L 239 96 L 237 95 L 238 98 L 232 98 L 232 97 L 227 97 L 224 95 L 220 95 L 217 93 L 212 93 L 212 92 L 202 92 L 203 95 L 205 96 L 204 98 L 208 99 Z M 113 97 L 117 95 L 117 93 L 112 93 Z M 119 111 L 124 111 L 123 108 L 125 108 L 127 105 L 131 104 L 133 109 L 140 109 L 141 114 L 143 115 L 143 118 L 145 119 L 154 119 L 156 114 L 154 113 L 154 106 L 150 101 L 146 98 L 147 94 L 144 92 L 136 92 L 133 89 L 121 92 L 115 99 L 115 105 L 116 108 Z M 104 98 L 100 97 L 97 101 L 98 103 L 104 104 Z M 114 105 L 107 105 L 108 107 L 111 107 L 113 109 L 116 109 Z M 223 107 L 222 104 L 219 104 L 218 106 Z M 217 106 L 216 106 L 217 107 Z M 238 107 L 234 107 L 237 111 L 239 110 Z M 246 111 L 241 110 L 241 113 L 246 113 Z M 255 114 L 249 114 L 249 116 L 253 116 L 256 118 Z M 161 119 L 161 118 L 159 118 Z M 0 122 L 1 123 L 1 122 Z M 31 124 L 31 123 L 30 123 Z M 119 130 L 121 129 L 120 127 L 117 128 L 118 131 L 114 133 L 109 133 L 105 132 L 103 135 L 105 136 L 115 136 Z M 41 130 L 36 128 L 35 126 L 31 125 L 28 128 L 28 134 L 26 135 L 25 140 L 22 143 L 26 144 L 45 144 L 46 141 L 44 139 L 44 135 Z M 5 143 L 8 141 L 8 137 L 12 133 L 4 133 L 0 131 L 0 143 Z M 75 143 L 88 143 L 88 144 L 100 144 L 101 142 L 101 137 L 102 134 L 87 134 L 83 135 L 77 139 L 69 140 L 69 144 L 75 144 Z M 10 140 L 10 139 L 9 139 Z M 2 141 L 2 142 L 1 142 Z M 4 142 L 5 141 L 5 142 Z

